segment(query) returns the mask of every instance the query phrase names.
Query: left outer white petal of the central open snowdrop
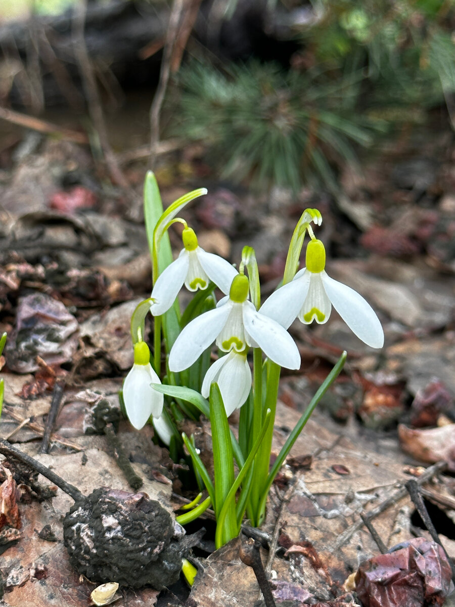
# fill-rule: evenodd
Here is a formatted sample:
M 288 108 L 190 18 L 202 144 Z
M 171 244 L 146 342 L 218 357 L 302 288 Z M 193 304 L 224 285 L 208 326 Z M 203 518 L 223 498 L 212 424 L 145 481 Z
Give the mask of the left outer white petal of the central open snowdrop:
M 201 314 L 183 328 L 170 350 L 170 371 L 183 371 L 199 358 L 223 329 L 231 308 L 232 304 L 227 302 Z

